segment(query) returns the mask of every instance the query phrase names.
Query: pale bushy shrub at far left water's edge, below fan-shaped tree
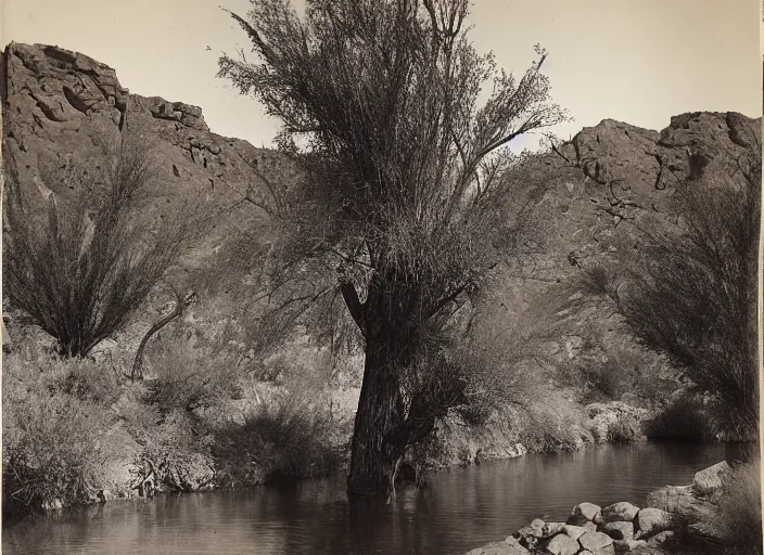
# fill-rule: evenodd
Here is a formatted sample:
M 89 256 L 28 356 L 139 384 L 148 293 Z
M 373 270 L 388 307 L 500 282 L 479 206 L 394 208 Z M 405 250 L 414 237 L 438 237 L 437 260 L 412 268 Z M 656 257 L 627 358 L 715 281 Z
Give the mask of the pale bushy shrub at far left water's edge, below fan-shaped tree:
M 69 364 L 48 367 L 7 357 L 3 364 L 3 509 L 85 502 L 111 487 L 109 465 L 120 456 L 115 416 L 92 400 L 56 390 Z

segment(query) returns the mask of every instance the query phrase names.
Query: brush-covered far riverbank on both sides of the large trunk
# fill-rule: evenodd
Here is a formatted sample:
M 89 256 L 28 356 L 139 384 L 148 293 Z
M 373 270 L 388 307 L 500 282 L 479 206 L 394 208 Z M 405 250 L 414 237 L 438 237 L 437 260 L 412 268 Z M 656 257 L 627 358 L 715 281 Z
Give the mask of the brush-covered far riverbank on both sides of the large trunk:
M 154 360 L 164 373 L 130 382 L 103 362 L 5 354 L 5 513 L 242 489 L 346 467 L 358 395 L 352 384 L 321 390 L 246 380 L 219 370 L 226 360 L 192 354 L 215 371 L 200 374 L 189 354 L 170 352 Z M 545 398 L 482 420 L 450 412 L 409 450 L 406 477 L 635 440 L 649 415 L 620 401 L 581 406 L 562 391 Z

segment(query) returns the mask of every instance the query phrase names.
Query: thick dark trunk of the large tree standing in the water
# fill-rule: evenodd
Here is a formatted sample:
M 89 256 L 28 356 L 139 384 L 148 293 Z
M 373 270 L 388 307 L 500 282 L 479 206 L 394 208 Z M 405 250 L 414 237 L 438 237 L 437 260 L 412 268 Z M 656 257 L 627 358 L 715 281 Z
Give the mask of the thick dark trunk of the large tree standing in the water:
M 404 418 L 400 398 L 400 352 L 407 346 L 386 337 L 366 345 L 364 383 L 358 400 L 347 491 L 354 495 L 386 496 L 393 491 L 395 468 L 405 446 L 391 441 Z M 393 337 L 395 334 L 391 334 Z

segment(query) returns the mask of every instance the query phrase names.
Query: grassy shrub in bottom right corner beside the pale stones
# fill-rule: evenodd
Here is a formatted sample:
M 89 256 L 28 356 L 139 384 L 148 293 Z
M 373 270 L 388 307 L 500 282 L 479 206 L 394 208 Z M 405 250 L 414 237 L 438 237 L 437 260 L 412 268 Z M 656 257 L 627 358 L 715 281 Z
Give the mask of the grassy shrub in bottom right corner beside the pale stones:
M 757 462 L 741 465 L 733 472 L 722 489 L 715 509 L 703 513 L 699 529 L 714 553 L 762 553 L 761 474 Z

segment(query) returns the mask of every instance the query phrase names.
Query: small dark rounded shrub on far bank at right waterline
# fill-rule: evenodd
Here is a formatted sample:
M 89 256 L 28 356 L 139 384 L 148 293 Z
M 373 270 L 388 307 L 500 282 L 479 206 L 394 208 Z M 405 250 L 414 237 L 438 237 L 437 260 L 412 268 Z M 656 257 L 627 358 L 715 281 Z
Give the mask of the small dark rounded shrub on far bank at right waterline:
M 696 439 L 713 436 L 702 400 L 691 393 L 677 397 L 645 424 L 645 434 L 654 439 Z

